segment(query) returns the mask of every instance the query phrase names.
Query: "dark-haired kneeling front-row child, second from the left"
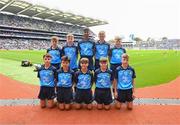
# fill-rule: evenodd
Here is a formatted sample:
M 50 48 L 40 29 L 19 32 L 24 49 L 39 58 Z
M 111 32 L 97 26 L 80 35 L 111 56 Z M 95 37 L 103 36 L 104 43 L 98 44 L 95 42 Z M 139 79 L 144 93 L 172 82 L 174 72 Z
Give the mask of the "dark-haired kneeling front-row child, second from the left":
M 69 110 L 72 102 L 74 72 L 70 69 L 68 56 L 61 58 L 61 68 L 57 71 L 57 101 L 60 110 Z

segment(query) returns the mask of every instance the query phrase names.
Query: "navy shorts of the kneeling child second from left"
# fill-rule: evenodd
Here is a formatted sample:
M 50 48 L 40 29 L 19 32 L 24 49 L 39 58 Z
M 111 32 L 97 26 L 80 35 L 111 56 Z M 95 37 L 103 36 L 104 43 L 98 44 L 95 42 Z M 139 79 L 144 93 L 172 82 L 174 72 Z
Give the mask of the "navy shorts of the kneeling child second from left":
M 70 104 L 72 99 L 73 96 L 71 87 L 57 87 L 57 101 L 59 103 Z

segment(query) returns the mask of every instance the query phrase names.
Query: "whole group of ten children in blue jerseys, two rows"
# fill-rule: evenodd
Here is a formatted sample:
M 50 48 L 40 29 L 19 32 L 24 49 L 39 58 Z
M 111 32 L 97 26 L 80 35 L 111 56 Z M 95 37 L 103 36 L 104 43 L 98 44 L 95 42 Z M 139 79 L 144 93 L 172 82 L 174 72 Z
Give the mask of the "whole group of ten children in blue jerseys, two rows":
M 97 109 L 109 110 L 113 93 L 116 108 L 120 109 L 122 103 L 126 102 L 127 109 L 133 109 L 136 75 L 129 66 L 129 56 L 121 46 L 120 37 L 115 37 L 115 46 L 110 48 L 105 41 L 104 31 L 99 32 L 97 42 L 89 38 L 89 33 L 89 29 L 84 29 L 84 38 L 77 46 L 73 34 L 68 34 L 67 43 L 62 49 L 57 46 L 58 37 L 52 37 L 51 47 L 43 56 L 44 65 L 38 69 L 38 98 L 42 108 L 54 107 L 54 98 L 57 97 L 57 105 L 61 110 L 71 109 L 72 101 L 76 109 L 81 109 L 82 104 L 85 104 L 91 110 L 93 100 L 97 102 Z

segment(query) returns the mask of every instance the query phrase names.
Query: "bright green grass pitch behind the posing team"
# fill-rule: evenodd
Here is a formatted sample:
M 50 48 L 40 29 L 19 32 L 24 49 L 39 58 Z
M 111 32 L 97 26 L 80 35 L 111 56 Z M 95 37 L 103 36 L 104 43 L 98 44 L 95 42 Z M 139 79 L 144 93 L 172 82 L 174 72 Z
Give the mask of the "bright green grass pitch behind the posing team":
M 42 63 L 45 51 L 0 50 L 0 73 L 25 83 L 38 85 L 34 67 L 21 67 L 24 59 Z M 130 65 L 136 71 L 136 87 L 167 83 L 180 76 L 180 51 L 128 50 Z

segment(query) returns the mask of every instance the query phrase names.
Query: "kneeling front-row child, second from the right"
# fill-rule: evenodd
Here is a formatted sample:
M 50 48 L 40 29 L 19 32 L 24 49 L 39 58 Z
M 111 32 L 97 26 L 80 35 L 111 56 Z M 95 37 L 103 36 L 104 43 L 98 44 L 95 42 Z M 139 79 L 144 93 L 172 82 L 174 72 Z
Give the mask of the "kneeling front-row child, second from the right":
M 100 58 L 99 64 L 100 68 L 94 74 L 96 84 L 95 101 L 97 102 L 97 109 L 109 110 L 112 103 L 111 85 L 114 79 L 113 73 L 108 69 L 107 58 Z

